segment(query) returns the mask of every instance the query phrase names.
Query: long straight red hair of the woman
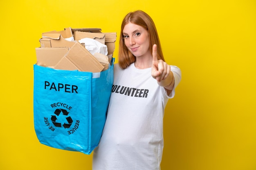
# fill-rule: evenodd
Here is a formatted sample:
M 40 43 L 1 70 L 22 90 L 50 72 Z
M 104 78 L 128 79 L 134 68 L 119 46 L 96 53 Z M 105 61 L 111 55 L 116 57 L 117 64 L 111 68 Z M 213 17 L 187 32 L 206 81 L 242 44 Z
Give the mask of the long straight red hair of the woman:
M 124 43 L 124 26 L 128 23 L 136 24 L 142 26 L 148 31 L 149 39 L 150 39 L 150 47 L 149 50 L 152 53 L 153 45 L 157 45 L 157 58 L 162 59 L 164 61 L 164 55 L 162 52 L 161 44 L 159 41 L 157 29 L 155 27 L 155 23 L 152 18 L 145 13 L 144 11 L 138 10 L 134 12 L 128 13 L 121 24 L 121 34 L 119 41 L 119 54 L 118 54 L 118 63 L 121 68 L 127 68 L 131 63 L 136 61 L 136 57 L 128 50 Z

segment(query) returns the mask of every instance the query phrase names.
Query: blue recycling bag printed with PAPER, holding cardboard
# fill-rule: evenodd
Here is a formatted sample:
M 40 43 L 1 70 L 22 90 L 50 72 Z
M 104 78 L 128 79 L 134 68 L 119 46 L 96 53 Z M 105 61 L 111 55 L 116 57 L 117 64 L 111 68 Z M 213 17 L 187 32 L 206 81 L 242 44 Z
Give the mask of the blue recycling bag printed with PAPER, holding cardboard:
M 98 73 L 34 65 L 34 128 L 41 144 L 92 153 L 106 121 L 114 61 Z

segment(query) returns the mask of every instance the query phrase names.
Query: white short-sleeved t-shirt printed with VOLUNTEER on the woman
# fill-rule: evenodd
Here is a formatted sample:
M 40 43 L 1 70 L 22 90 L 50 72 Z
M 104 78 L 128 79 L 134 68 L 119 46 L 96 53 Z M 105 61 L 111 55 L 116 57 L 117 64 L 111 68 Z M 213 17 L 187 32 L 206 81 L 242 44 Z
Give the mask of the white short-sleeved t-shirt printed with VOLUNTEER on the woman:
M 175 87 L 181 72 L 171 66 Z M 168 98 L 151 76 L 151 68 L 134 63 L 114 67 L 108 115 L 99 146 L 93 153 L 93 170 L 159 170 L 162 160 L 163 117 Z

